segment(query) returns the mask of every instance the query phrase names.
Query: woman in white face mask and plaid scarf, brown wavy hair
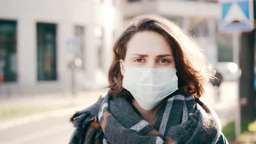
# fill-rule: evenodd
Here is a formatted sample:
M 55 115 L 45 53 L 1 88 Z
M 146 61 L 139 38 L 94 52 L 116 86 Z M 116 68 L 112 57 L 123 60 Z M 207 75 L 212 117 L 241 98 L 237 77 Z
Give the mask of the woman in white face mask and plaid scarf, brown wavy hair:
M 70 118 L 69 144 L 225 144 L 216 113 L 200 97 L 214 72 L 173 22 L 135 17 L 113 47 L 108 93 Z

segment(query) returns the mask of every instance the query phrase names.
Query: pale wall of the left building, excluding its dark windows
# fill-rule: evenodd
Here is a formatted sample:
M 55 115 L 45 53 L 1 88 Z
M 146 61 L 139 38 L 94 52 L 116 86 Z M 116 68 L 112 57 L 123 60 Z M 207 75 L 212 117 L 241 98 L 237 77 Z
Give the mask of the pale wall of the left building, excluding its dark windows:
M 68 92 L 70 90 L 70 71 L 67 67 L 69 53 L 66 40 L 74 37 L 74 27 L 85 27 L 85 71 L 80 71 L 83 88 L 97 88 L 95 70 L 97 51 L 94 45 L 95 25 L 105 30 L 105 73 L 112 59 L 112 31 L 120 29 L 122 17 L 120 2 L 115 7 L 109 0 L 104 3 L 94 0 L 0 0 L 0 20 L 17 21 L 17 67 L 18 81 L 4 84 L 11 92 Z M 36 23 L 55 23 L 57 81 L 37 81 Z M 103 72 L 104 73 L 104 72 Z M 84 76 L 82 78 L 82 76 Z M 106 76 L 106 75 L 105 75 Z M 105 82 L 107 78 L 105 77 Z M 81 84 L 81 83 L 80 83 Z M 93 86 L 93 87 L 92 87 Z M 1 94 L 0 94 L 1 95 Z

